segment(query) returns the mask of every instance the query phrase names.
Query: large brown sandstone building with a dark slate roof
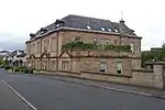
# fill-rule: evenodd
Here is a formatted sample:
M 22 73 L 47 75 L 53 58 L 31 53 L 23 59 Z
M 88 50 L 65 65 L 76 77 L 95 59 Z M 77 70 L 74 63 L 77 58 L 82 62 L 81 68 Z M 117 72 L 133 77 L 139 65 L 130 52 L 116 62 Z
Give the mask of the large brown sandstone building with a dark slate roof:
M 123 20 L 67 15 L 30 36 L 26 57 L 35 69 L 132 76 L 141 68 L 142 37 Z

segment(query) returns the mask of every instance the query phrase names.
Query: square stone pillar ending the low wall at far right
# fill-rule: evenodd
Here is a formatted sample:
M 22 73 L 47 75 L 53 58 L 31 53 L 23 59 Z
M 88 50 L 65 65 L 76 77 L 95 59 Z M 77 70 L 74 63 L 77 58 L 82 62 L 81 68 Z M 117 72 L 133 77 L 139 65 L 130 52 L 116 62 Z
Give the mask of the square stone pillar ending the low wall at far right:
M 164 88 L 164 65 L 165 65 L 164 62 L 153 63 L 154 74 L 156 75 L 155 82 L 156 86 L 161 89 Z

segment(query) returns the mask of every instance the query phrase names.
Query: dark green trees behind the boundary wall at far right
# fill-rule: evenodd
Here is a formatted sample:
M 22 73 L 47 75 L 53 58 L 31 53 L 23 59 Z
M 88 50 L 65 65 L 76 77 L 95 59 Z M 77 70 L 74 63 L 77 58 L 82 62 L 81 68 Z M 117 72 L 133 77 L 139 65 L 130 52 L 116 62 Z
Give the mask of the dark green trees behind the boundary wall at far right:
M 142 67 L 145 67 L 146 62 L 165 62 L 165 44 L 162 50 L 145 51 L 141 54 Z

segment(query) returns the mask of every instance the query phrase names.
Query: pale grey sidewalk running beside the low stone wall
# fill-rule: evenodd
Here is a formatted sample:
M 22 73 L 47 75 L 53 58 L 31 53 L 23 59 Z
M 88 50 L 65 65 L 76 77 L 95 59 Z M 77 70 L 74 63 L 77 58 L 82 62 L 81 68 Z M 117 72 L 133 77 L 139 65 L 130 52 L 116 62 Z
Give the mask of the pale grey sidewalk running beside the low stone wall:
M 94 81 L 94 80 L 88 80 L 88 79 L 64 77 L 64 76 L 58 76 L 58 75 L 57 76 L 54 75 L 53 78 L 63 80 L 63 81 L 77 82 L 77 84 L 81 84 L 81 85 L 86 85 L 86 86 L 99 87 L 99 88 L 103 88 L 103 89 L 108 89 L 108 90 L 116 90 L 119 92 L 130 92 L 130 94 L 135 94 L 135 95 L 142 95 L 142 96 L 147 96 L 147 97 L 156 97 L 156 98 L 165 99 L 165 90 L 161 90 L 161 89 L 131 86 L 131 85 L 122 85 L 122 84 Z

